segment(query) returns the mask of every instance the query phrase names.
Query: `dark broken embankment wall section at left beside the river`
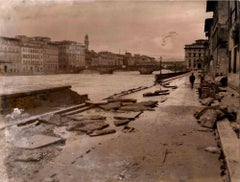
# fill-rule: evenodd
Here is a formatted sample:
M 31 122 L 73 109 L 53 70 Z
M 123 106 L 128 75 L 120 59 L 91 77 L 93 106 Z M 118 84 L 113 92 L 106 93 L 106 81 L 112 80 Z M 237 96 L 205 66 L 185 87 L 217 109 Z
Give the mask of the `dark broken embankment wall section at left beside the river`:
M 71 90 L 70 85 L 5 94 L 0 95 L 0 113 L 10 113 L 13 108 L 24 109 L 30 113 L 36 110 L 45 112 L 53 107 L 80 104 L 85 100 L 88 100 L 88 95 L 79 95 Z

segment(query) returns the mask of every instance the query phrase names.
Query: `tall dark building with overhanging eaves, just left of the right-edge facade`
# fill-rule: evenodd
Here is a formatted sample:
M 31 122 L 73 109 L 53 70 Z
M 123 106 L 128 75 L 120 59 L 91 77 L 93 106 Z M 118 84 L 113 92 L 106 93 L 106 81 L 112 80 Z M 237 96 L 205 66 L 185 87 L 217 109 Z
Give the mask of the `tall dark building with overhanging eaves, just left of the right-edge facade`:
M 205 35 L 209 43 L 209 69 L 213 77 L 228 73 L 228 1 L 207 0 L 206 12 L 213 17 L 205 20 Z

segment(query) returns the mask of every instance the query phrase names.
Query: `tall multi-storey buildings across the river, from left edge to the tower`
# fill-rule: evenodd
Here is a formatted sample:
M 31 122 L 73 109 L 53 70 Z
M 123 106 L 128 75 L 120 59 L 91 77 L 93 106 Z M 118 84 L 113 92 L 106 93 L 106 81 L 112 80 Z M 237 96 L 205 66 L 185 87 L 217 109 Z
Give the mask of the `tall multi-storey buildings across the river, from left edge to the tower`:
M 87 43 L 87 35 L 85 42 Z M 0 73 L 54 73 L 85 66 L 88 44 L 48 37 L 0 37 Z

